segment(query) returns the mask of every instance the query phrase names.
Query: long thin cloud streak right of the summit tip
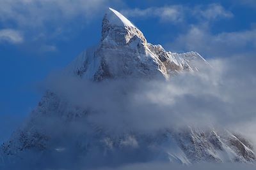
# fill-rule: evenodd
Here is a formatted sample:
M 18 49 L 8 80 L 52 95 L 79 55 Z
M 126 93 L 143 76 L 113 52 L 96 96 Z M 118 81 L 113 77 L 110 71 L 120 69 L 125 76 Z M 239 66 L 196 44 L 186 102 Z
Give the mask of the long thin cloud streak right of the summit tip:
M 153 7 L 146 9 L 127 9 L 122 10 L 122 13 L 128 17 L 136 18 L 149 18 L 158 17 L 161 21 L 165 22 L 182 22 L 186 17 L 194 17 L 204 20 L 216 20 L 218 18 L 230 18 L 233 14 L 230 11 L 225 10 L 220 4 L 209 4 L 200 6 L 163 6 Z

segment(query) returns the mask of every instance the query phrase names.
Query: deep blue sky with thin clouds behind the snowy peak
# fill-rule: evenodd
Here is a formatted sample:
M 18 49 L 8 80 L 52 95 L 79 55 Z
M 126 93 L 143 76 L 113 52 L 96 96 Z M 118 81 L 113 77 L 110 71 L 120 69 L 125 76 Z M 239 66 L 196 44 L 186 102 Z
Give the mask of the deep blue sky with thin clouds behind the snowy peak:
M 12 131 L 44 94 L 47 75 L 67 66 L 100 40 L 111 6 L 124 13 L 150 43 L 205 59 L 256 52 L 256 1 L 0 1 L 1 130 Z M 6 132 L 0 131 L 0 141 Z

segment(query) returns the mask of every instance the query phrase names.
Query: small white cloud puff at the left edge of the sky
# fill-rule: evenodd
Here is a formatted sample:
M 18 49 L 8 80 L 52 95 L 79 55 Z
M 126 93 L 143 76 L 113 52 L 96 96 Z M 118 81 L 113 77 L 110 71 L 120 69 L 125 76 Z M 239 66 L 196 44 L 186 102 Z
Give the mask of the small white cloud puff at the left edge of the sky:
M 22 43 L 23 42 L 22 34 L 19 31 L 13 29 L 1 29 L 0 30 L 0 43 Z

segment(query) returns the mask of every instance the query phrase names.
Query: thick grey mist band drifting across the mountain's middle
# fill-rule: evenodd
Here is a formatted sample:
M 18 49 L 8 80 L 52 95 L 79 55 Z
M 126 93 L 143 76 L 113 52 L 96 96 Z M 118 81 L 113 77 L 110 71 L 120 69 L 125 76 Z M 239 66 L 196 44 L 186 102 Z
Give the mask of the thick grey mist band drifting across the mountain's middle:
M 243 132 L 246 125 L 254 129 L 250 123 L 256 118 L 255 61 L 253 57 L 212 59 L 211 67 L 200 66 L 199 72 L 180 73 L 168 81 L 133 78 L 99 83 L 54 74 L 45 87 L 79 108 L 90 108 L 88 121 L 111 132 L 152 132 L 184 125 Z

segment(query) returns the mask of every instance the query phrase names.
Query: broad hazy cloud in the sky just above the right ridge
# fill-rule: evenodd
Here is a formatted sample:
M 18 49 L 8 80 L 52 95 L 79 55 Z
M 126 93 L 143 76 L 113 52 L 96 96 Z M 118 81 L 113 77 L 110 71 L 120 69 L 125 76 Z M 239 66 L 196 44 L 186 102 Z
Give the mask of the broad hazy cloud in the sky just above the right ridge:
M 210 57 L 250 55 L 256 49 L 256 29 L 212 34 L 204 25 L 193 25 L 168 45 L 174 51 L 197 51 Z

